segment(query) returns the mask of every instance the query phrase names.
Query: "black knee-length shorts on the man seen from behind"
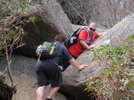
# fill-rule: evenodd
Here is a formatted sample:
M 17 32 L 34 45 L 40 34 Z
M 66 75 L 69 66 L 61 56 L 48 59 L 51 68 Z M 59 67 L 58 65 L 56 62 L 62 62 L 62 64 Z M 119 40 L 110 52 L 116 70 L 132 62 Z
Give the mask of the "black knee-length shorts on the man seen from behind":
M 62 72 L 53 60 L 41 60 L 36 63 L 36 76 L 38 86 L 59 87 L 62 83 Z

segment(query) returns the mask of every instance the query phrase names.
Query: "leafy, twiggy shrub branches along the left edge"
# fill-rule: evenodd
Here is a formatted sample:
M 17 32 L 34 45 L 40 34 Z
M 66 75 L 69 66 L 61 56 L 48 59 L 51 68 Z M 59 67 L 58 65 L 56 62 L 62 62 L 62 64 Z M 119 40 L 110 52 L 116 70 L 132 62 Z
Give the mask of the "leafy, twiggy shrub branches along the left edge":
M 27 0 L 3 0 L 0 5 L 0 59 L 6 58 L 6 66 L 1 75 L 8 72 L 11 86 L 14 87 L 10 69 L 11 56 L 14 49 L 25 45 L 23 37 L 27 33 L 23 27 L 29 22 L 36 22 L 35 17 L 27 16 L 26 9 L 30 3 Z

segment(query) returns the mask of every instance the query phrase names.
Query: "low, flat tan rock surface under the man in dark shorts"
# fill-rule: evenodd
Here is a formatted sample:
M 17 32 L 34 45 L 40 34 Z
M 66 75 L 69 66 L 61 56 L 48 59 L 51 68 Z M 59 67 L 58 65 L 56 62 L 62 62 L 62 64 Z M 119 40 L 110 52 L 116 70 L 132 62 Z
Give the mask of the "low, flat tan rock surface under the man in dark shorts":
M 12 100 L 36 100 L 37 79 L 35 73 L 36 60 L 22 55 L 13 55 L 11 70 L 14 83 L 17 86 L 17 92 Z M 0 61 L 0 70 L 4 70 L 5 60 Z M 6 76 L 6 83 L 10 86 L 9 76 Z M 51 85 L 48 85 L 44 91 L 44 98 L 49 92 Z M 53 100 L 67 100 L 61 93 L 56 93 Z

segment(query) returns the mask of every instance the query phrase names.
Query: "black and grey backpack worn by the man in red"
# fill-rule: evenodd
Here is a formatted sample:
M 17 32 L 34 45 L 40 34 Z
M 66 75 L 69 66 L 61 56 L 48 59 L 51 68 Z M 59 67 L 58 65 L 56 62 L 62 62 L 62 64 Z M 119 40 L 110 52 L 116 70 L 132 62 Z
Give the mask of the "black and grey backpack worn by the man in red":
M 71 35 L 70 35 L 70 37 L 69 37 L 69 39 L 68 39 L 68 45 L 70 46 L 70 45 L 73 45 L 73 44 L 75 44 L 76 42 L 77 42 L 77 37 L 78 37 L 78 35 L 79 35 L 79 33 L 80 33 L 80 31 L 82 30 L 82 29 L 85 29 L 86 31 L 87 31 L 87 27 L 80 27 L 80 28 L 78 28 L 76 31 L 74 31 Z

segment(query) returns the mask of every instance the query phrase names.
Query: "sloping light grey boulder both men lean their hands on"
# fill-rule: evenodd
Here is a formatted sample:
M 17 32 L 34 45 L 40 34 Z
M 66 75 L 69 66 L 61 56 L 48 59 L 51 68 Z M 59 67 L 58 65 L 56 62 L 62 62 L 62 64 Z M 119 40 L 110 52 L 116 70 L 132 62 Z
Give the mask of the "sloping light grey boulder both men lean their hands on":
M 126 40 L 130 34 L 134 34 L 134 14 L 127 16 L 121 22 L 117 23 L 113 28 L 111 28 L 107 33 L 97 39 L 94 44 L 96 48 L 100 45 L 105 45 L 106 41 L 110 41 L 110 44 L 117 45 L 117 40 L 122 43 L 121 39 Z M 82 71 L 78 71 L 72 65 L 70 65 L 66 71 L 63 72 L 63 85 L 60 91 L 66 94 L 75 95 L 80 100 L 89 100 L 88 96 L 85 96 L 85 92 L 82 90 L 86 87 L 86 80 L 90 77 L 97 76 L 98 70 L 96 61 L 92 61 L 93 54 L 87 54 L 90 51 L 85 51 L 78 58 L 77 62 L 79 64 L 88 64 L 89 66 Z M 83 87 L 83 89 L 82 89 Z M 79 91 L 79 92 L 78 92 Z M 81 91 L 81 92 L 80 92 Z

